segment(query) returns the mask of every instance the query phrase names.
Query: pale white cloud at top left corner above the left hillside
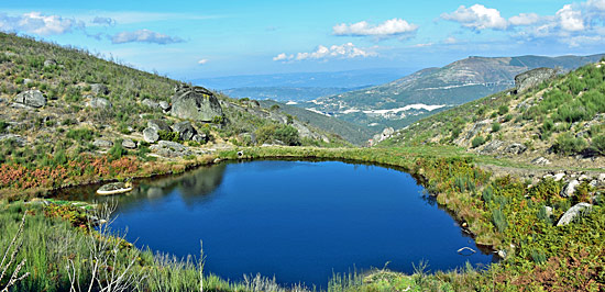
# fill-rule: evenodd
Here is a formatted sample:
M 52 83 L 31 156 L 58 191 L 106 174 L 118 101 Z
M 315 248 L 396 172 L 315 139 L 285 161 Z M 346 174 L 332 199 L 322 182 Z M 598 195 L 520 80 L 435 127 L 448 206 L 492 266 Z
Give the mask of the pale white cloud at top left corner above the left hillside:
M 84 22 L 65 19 L 59 15 L 45 15 L 30 12 L 19 16 L 0 13 L 0 30 L 8 32 L 25 32 L 38 35 L 64 34 L 73 29 L 84 27 Z

